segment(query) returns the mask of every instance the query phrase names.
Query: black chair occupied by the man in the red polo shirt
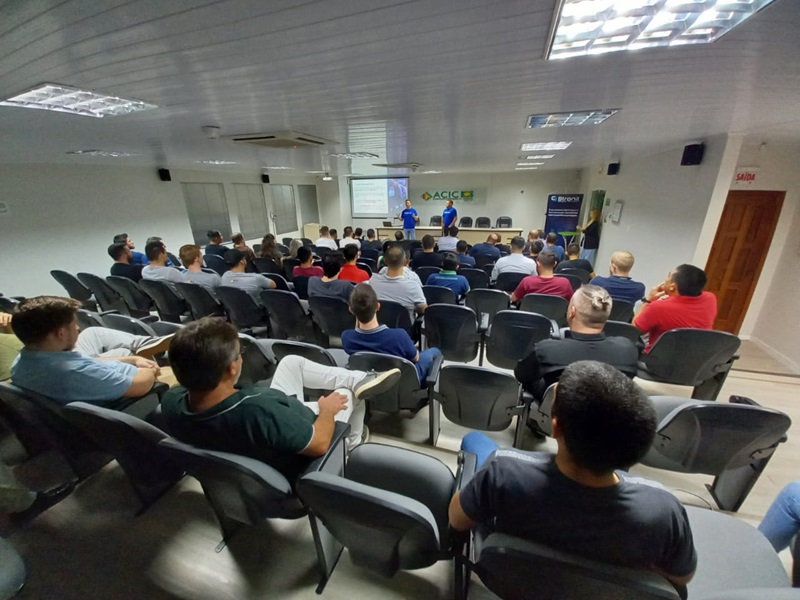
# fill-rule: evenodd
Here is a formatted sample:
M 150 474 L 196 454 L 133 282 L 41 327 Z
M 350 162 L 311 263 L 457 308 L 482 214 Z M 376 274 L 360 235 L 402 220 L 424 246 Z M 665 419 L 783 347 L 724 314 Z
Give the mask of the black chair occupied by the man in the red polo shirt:
M 739 358 L 741 341 L 733 334 L 706 329 L 673 329 L 663 334 L 639 362 L 638 377 L 693 386 L 692 398 L 716 400 Z

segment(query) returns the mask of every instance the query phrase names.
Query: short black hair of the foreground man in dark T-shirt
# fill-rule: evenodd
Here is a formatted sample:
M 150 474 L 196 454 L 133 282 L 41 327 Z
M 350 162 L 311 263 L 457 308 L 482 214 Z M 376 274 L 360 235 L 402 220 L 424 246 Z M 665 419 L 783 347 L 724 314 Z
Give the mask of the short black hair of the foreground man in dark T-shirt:
M 564 369 L 553 417 L 572 459 L 598 475 L 639 462 L 656 431 L 656 413 L 645 393 L 614 367 L 593 360 Z

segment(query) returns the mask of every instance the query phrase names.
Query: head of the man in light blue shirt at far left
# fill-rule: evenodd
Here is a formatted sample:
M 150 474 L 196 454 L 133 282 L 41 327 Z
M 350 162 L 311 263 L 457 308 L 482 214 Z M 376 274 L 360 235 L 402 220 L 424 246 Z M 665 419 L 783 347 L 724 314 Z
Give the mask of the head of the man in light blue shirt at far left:
M 20 302 L 11 329 L 26 347 L 48 344 L 53 350 L 71 350 L 78 341 L 78 309 L 73 298 L 36 296 Z

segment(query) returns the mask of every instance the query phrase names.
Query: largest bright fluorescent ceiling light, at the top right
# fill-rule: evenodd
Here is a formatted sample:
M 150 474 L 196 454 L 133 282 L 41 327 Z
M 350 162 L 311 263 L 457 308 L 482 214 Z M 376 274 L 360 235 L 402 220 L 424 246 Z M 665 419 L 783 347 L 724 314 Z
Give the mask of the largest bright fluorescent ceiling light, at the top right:
M 560 0 L 548 59 L 708 44 L 775 0 Z

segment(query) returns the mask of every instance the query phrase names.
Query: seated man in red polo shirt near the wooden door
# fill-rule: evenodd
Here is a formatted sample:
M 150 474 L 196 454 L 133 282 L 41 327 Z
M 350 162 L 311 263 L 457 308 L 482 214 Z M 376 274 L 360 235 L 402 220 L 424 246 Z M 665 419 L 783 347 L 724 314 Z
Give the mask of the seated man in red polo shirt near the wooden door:
M 650 352 L 670 329 L 713 329 L 717 318 L 717 297 L 704 292 L 706 274 L 694 265 L 679 265 L 666 281 L 654 287 L 642 300 L 633 324 L 648 335 L 644 351 Z

